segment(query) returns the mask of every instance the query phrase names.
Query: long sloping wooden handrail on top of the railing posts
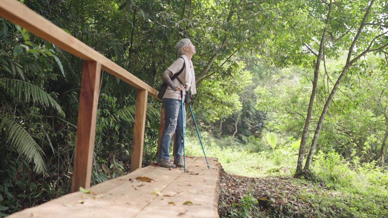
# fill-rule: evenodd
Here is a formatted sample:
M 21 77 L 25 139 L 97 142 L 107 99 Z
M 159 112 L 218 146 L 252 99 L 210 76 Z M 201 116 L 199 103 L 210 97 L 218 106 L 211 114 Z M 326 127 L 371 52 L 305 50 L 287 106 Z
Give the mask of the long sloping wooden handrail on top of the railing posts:
M 149 94 L 158 99 L 158 91 L 129 73 L 104 55 L 88 47 L 85 43 L 71 36 L 63 29 L 59 28 L 49 20 L 35 13 L 27 6 L 17 0 L 1 0 L 0 16 L 28 29 L 31 33 L 54 43 L 58 47 L 66 50 L 70 54 L 80 57 L 83 60 L 97 61 L 101 63 L 102 69 L 117 76 L 126 83 L 139 89 L 148 90 Z M 159 99 L 158 99 L 159 100 Z

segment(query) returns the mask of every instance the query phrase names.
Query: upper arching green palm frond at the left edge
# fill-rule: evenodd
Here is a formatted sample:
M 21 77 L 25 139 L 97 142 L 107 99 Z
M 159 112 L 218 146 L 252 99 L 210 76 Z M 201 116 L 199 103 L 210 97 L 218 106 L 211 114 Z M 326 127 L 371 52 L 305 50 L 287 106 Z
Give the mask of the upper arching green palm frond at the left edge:
M 5 88 L 9 95 L 12 95 L 17 100 L 38 102 L 43 106 L 54 108 L 59 116 L 65 117 L 62 107 L 49 94 L 31 83 L 22 80 L 0 78 L 0 85 Z

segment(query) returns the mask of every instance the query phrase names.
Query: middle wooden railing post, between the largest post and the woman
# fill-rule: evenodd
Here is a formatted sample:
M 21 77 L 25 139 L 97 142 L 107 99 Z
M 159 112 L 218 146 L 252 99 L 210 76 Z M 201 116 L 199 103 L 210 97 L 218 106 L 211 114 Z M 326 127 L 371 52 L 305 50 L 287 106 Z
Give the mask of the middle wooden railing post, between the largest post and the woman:
M 147 97 L 147 90 L 137 90 L 135 125 L 133 128 L 132 140 L 131 172 L 142 167 Z

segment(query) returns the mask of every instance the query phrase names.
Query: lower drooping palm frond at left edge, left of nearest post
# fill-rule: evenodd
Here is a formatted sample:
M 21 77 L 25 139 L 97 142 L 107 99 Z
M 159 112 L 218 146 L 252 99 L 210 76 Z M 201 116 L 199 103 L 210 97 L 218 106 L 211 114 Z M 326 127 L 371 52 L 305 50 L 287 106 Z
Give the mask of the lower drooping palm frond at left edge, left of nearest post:
M 34 162 L 37 173 L 47 171 L 43 160 L 43 151 L 24 128 L 5 114 L 0 114 L 0 130 L 5 130 L 7 142 L 17 147 L 17 152 L 23 154 L 26 161 Z

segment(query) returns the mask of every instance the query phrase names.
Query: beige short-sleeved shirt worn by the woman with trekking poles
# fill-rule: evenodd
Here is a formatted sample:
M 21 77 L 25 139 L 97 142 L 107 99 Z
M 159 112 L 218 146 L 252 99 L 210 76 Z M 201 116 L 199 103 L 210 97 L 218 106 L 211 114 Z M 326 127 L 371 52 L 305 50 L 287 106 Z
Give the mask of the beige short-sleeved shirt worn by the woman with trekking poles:
M 182 69 L 183 64 L 184 64 L 184 60 L 182 58 L 178 58 L 167 69 L 169 71 L 171 71 L 173 74 L 176 74 L 176 73 L 178 73 L 180 71 L 180 69 Z M 186 66 L 188 66 L 187 63 L 186 63 Z M 191 63 L 189 64 L 189 67 L 193 67 Z M 190 77 L 191 81 L 186 81 L 186 78 L 187 78 L 186 77 L 186 72 L 187 72 L 186 69 L 183 69 L 182 73 L 179 74 L 178 78 L 185 85 L 186 90 L 189 90 L 191 84 L 193 82 L 195 83 L 195 81 L 194 81 L 195 78 L 193 79 L 192 76 L 191 76 Z M 180 82 L 177 79 L 173 80 L 172 82 L 174 83 L 175 86 L 180 85 Z M 186 95 L 186 93 L 183 92 L 183 100 L 185 100 L 185 95 Z M 166 89 L 165 95 L 163 96 L 163 99 L 178 99 L 178 100 L 180 100 L 180 92 L 174 91 L 174 90 L 171 89 L 170 86 L 167 86 L 167 89 Z

